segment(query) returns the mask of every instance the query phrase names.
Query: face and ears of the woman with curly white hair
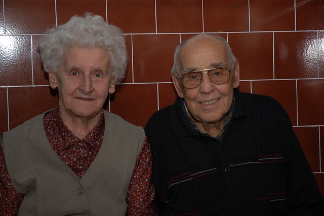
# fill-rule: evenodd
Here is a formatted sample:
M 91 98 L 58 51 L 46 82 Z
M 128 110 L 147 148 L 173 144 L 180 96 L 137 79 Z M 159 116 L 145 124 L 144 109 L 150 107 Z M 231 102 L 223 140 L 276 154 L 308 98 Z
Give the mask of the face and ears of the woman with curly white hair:
M 51 87 L 58 88 L 63 120 L 100 117 L 108 93 L 115 92 L 109 53 L 100 48 L 69 48 L 58 73 L 49 78 Z

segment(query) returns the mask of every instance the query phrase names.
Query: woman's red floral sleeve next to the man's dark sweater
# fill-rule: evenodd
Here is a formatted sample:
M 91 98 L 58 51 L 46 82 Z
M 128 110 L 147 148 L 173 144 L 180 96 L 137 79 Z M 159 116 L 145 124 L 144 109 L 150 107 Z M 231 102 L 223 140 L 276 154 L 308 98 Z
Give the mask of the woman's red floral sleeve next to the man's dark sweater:
M 145 137 L 128 188 L 126 215 L 156 215 L 152 183 L 152 153 Z

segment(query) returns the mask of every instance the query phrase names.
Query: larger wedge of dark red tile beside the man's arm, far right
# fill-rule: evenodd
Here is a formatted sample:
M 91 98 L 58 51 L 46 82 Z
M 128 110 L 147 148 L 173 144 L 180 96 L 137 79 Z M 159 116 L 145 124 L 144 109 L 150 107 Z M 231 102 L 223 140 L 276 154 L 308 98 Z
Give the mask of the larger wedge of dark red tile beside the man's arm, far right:
M 319 172 L 318 127 L 294 127 L 294 131 L 313 172 Z

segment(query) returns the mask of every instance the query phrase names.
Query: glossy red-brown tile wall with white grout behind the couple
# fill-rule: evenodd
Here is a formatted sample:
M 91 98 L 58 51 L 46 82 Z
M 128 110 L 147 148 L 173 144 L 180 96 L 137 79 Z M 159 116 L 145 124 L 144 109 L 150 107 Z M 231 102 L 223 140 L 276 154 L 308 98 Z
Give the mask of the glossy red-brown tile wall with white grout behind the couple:
M 240 60 L 240 91 L 285 107 L 324 194 L 324 1 L 0 1 L 0 133 L 58 105 L 37 53 L 39 34 L 87 11 L 126 35 L 127 76 L 107 110 L 144 126 L 176 98 L 177 44 L 220 32 Z

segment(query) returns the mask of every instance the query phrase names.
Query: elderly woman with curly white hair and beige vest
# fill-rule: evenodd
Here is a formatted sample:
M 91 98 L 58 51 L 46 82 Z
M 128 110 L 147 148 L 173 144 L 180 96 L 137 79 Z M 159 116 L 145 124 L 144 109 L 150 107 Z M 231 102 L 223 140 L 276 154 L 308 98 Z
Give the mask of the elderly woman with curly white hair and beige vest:
M 74 16 L 39 50 L 59 106 L 2 136 L 1 215 L 153 214 L 144 130 L 103 110 L 125 77 L 119 28 Z

